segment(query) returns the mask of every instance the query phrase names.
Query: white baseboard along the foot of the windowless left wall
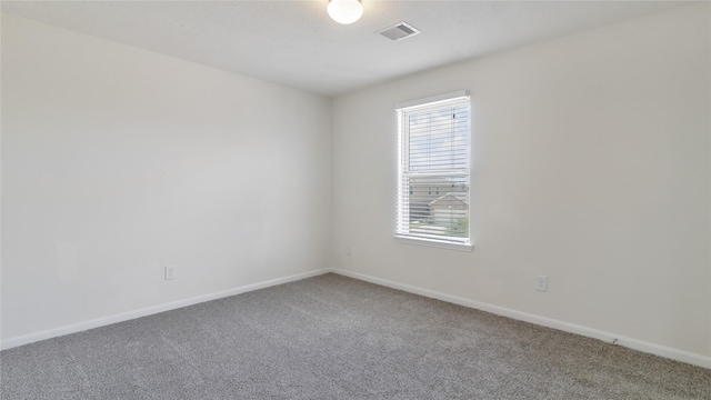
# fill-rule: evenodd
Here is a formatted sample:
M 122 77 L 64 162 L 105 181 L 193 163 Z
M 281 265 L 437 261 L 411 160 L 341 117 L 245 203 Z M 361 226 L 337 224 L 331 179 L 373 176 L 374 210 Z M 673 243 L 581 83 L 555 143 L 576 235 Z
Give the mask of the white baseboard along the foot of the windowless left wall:
M 148 317 L 159 312 L 176 310 L 179 308 L 198 304 L 206 301 L 222 299 L 226 297 L 236 296 L 240 293 L 246 293 L 253 290 L 264 289 L 264 288 L 269 288 L 277 284 L 293 282 L 293 281 L 320 276 L 328 272 L 330 272 L 329 269 L 320 269 L 314 271 L 297 273 L 289 277 L 277 278 L 277 279 L 271 279 L 263 282 L 246 284 L 246 286 L 241 286 L 241 287 L 237 287 L 228 290 L 222 290 L 214 293 L 197 296 L 189 299 L 171 301 L 163 304 L 146 307 L 146 308 L 133 310 L 133 311 L 97 318 L 97 319 L 92 319 L 92 320 L 83 321 L 79 323 L 72 323 L 69 326 L 49 329 L 41 332 L 24 334 L 21 337 L 14 337 L 10 339 L 3 339 L 0 341 L 0 349 L 2 350 L 11 349 L 18 346 L 29 344 L 40 340 L 57 338 L 57 337 L 70 334 L 70 333 L 77 333 L 77 332 L 86 331 L 93 328 L 106 327 L 117 322 L 123 322 L 123 321 L 128 321 L 128 320 L 132 320 L 141 317 Z

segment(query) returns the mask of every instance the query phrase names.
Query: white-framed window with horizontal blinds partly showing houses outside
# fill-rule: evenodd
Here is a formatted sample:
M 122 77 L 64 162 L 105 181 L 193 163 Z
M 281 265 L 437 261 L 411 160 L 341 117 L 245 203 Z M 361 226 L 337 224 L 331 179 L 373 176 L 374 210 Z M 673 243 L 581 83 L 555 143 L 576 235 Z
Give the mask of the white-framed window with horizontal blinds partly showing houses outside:
M 415 100 L 398 112 L 398 239 L 471 250 L 470 106 L 459 91 Z M 440 188 L 444 188 L 440 192 Z M 432 190 L 434 189 L 434 190 Z

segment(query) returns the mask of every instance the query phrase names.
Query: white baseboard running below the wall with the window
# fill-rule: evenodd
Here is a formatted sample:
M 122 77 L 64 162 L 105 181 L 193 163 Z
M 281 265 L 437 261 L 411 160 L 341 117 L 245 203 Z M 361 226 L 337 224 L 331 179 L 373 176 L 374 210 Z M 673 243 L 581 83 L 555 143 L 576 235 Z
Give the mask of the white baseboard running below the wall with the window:
M 375 278 L 375 277 L 363 274 L 363 273 L 358 273 L 358 272 L 352 272 L 352 271 L 347 271 L 341 269 L 331 269 L 331 272 L 338 273 L 344 277 L 354 278 L 362 281 L 384 286 L 388 288 L 398 289 L 398 290 L 407 291 L 410 293 L 447 301 L 447 302 L 459 304 L 459 306 L 474 308 L 474 309 L 491 312 L 498 316 L 509 317 L 512 319 L 531 322 L 531 323 L 548 327 L 548 328 L 558 329 L 564 332 L 575 333 L 575 334 L 584 336 L 588 338 L 602 340 L 609 343 L 623 346 L 623 347 L 639 350 L 642 352 L 647 352 L 647 353 L 664 357 L 668 359 L 687 362 L 693 366 L 711 369 L 711 357 L 695 354 L 692 352 L 668 348 L 664 346 L 645 342 L 645 341 L 637 340 L 632 338 L 625 338 L 623 336 L 619 336 L 615 333 L 605 332 L 605 331 L 601 331 L 598 329 L 592 329 L 592 328 L 588 328 L 588 327 L 583 327 L 574 323 L 563 322 L 563 321 L 554 320 L 551 318 L 535 316 L 528 312 L 517 311 L 517 310 L 493 306 L 493 304 L 489 304 L 480 301 L 474 301 L 465 298 L 460 298 L 457 296 L 450 296 L 450 294 L 441 293 L 434 290 L 418 288 L 410 284 L 398 283 L 387 279 Z

